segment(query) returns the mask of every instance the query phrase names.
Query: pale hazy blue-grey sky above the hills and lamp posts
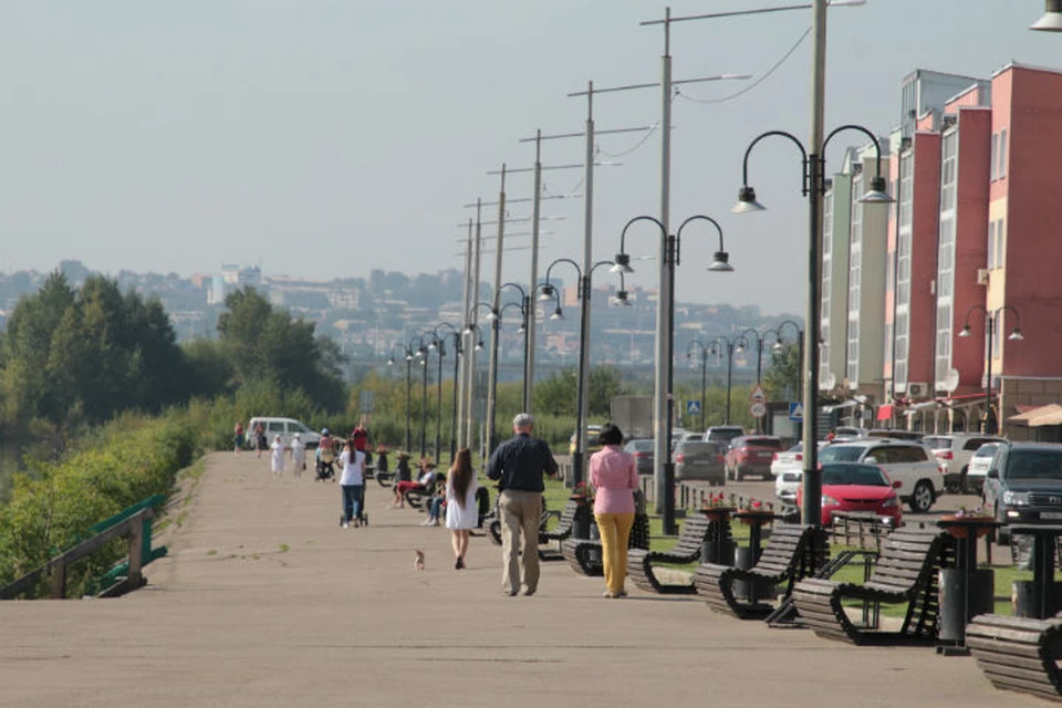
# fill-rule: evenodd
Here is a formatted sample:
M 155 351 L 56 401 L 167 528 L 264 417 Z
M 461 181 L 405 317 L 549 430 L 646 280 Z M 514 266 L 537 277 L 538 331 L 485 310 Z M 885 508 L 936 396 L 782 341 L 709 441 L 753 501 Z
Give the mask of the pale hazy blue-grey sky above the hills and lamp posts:
M 670 7 L 680 17 L 779 4 L 789 2 Z M 498 199 L 488 173 L 530 168 L 533 144 L 520 140 L 538 129 L 583 131 L 586 100 L 568 93 L 659 81 L 663 29 L 639 22 L 664 12 L 650 0 L 2 0 L 0 271 L 64 259 L 183 275 L 235 262 L 308 279 L 462 268 L 462 225 L 475 216 L 465 205 Z M 986 79 L 1014 61 L 1062 69 L 1062 35 L 1027 29 L 1042 12 L 1042 0 L 831 9 L 826 129 L 887 135 L 915 69 Z M 671 27 L 676 80 L 753 75 L 680 86 L 671 102 L 671 222 L 715 218 L 736 269 L 708 273 L 718 236 L 691 225 L 680 301 L 803 309 L 794 147 L 768 140 L 752 153 L 767 212 L 730 207 L 757 135 L 808 137 L 811 40 L 800 38 L 810 24 L 800 10 Z M 658 126 L 660 113 L 658 88 L 594 100 L 598 131 Z M 831 144 L 827 173 L 843 147 Z M 659 215 L 659 131 L 600 135 L 596 149 L 607 164 L 595 173 L 593 251 L 604 260 L 629 219 Z M 581 137 L 542 143 L 545 167 L 584 155 Z M 543 177 L 545 195 L 582 192 L 581 169 Z M 509 199 L 532 192 L 529 171 L 508 177 Z M 559 258 L 582 261 L 583 210 L 579 198 L 543 201 L 540 274 Z M 524 202 L 508 211 L 531 214 Z M 494 221 L 497 207 L 482 218 Z M 530 227 L 507 229 L 502 279 L 525 283 L 530 238 L 517 235 Z M 656 287 L 654 229 L 628 232 L 628 284 Z M 554 277 L 572 272 L 558 266 Z M 491 254 L 482 274 L 493 278 Z

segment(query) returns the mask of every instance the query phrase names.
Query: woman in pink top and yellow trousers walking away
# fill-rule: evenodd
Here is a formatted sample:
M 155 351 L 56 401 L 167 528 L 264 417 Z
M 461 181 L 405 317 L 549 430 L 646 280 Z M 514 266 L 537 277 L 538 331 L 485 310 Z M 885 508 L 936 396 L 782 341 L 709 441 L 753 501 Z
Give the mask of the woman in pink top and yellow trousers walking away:
M 590 483 L 594 497 L 594 519 L 601 533 L 605 566 L 605 597 L 625 597 L 623 584 L 627 576 L 627 542 L 634 525 L 634 490 L 638 488 L 638 472 L 634 456 L 624 452 L 623 433 L 610 424 L 601 428 L 600 452 L 590 458 Z

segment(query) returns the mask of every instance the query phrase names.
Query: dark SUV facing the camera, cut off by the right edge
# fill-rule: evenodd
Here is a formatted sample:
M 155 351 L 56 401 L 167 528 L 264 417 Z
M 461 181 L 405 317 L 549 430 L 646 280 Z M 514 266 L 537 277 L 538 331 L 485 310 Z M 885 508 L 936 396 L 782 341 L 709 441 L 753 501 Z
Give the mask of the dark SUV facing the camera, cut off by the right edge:
M 985 510 L 1002 523 L 1062 521 L 1062 445 L 1003 441 L 985 479 Z M 1010 531 L 999 530 L 1000 543 Z

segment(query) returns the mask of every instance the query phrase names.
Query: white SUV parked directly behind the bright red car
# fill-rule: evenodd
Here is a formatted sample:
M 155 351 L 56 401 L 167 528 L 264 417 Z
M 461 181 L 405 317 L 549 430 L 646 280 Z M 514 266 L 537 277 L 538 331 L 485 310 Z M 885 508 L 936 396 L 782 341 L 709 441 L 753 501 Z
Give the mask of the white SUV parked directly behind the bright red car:
M 926 512 L 944 494 L 944 473 L 929 448 L 919 442 L 865 438 L 835 442 L 819 454 L 819 461 L 865 462 L 881 467 L 899 482 L 899 498 L 915 512 Z

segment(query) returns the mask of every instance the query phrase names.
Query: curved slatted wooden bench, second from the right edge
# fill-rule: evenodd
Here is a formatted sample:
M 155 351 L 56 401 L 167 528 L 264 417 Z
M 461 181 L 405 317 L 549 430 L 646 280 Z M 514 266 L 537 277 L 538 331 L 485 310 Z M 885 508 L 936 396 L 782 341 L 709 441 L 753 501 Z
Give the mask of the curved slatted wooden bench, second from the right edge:
M 896 529 L 885 538 L 874 573 L 864 584 L 805 579 L 793 587 L 801 620 L 821 637 L 853 644 L 933 643 L 937 637 L 937 576 L 954 564 L 951 537 L 939 529 Z M 856 626 L 845 600 L 907 603 L 898 632 Z

